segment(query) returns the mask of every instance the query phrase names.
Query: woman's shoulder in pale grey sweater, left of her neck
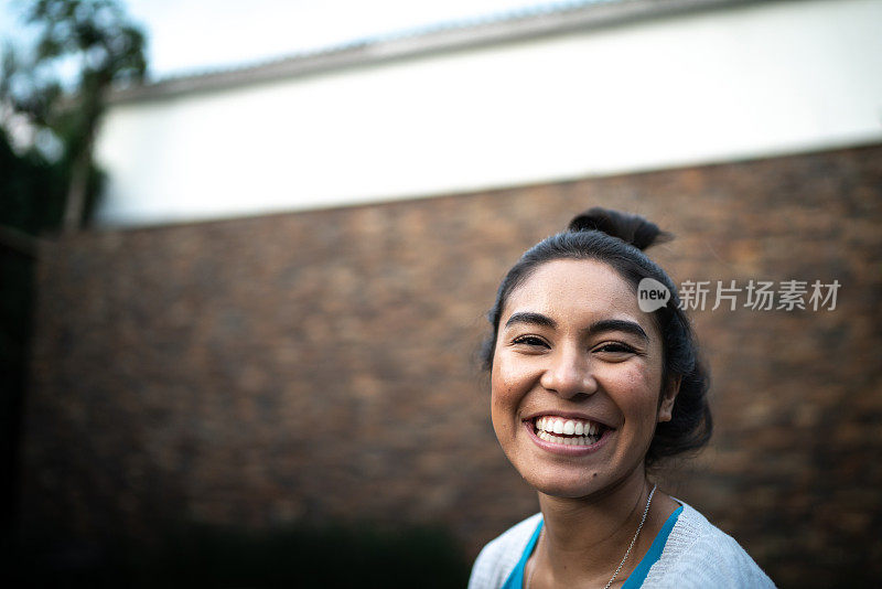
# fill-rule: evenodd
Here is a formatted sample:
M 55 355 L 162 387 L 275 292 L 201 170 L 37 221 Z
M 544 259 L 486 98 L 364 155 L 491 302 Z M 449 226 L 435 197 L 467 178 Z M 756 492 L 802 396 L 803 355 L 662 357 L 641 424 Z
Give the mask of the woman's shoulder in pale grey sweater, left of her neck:
M 541 513 L 530 515 L 488 542 L 477 555 L 472 567 L 469 589 L 496 589 L 502 587 L 505 579 L 508 578 L 508 575 L 512 574 L 512 570 L 520 560 L 524 549 L 527 547 L 541 518 Z

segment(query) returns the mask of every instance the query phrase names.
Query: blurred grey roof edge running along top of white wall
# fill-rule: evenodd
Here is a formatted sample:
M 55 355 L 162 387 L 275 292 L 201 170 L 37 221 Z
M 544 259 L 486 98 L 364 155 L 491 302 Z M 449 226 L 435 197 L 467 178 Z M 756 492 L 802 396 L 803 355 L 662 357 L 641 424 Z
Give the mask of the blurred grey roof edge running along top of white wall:
M 117 89 L 110 95 L 109 101 L 119 104 L 162 99 L 434 53 L 614 26 L 659 17 L 756 3 L 768 3 L 768 0 L 625 0 L 566 7 L 563 10 L 530 13 L 526 17 L 515 13 L 513 18 L 498 21 L 442 26 L 421 34 L 357 42 L 254 66 L 171 77 Z

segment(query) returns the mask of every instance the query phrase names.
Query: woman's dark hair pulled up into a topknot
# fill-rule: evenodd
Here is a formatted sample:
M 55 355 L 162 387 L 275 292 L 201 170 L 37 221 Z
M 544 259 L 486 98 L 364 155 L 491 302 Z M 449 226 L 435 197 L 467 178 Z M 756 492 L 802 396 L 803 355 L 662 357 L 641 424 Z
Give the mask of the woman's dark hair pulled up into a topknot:
M 635 296 L 637 285 L 644 278 L 653 278 L 665 285 L 670 291 L 670 300 L 653 311 L 652 318 L 662 334 L 663 387 L 677 378 L 680 379 L 680 387 L 670 421 L 656 426 L 646 453 L 647 467 L 663 458 L 703 447 L 713 428 L 707 399 L 710 376 L 699 357 L 689 318 L 679 307 L 677 288 L 667 272 L 643 253 L 643 249 L 673 237 L 655 223 L 619 211 L 594 207 L 576 216 L 567 231 L 533 246 L 508 270 L 496 292 L 496 302 L 487 313 L 493 332 L 481 350 L 484 370 L 490 371 L 493 367 L 499 319 L 509 294 L 545 263 L 556 259 L 602 261 L 632 286 Z

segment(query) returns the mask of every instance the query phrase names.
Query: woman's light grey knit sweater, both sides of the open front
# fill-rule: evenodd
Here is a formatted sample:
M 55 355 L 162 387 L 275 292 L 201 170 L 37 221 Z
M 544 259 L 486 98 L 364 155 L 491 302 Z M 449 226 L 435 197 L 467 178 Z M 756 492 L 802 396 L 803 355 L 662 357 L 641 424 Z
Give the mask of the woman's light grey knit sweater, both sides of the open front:
M 662 556 L 649 569 L 645 588 L 706 589 L 775 587 L 729 535 L 682 503 Z M 498 589 L 520 560 L 542 514 L 537 513 L 484 546 L 472 568 L 469 589 Z

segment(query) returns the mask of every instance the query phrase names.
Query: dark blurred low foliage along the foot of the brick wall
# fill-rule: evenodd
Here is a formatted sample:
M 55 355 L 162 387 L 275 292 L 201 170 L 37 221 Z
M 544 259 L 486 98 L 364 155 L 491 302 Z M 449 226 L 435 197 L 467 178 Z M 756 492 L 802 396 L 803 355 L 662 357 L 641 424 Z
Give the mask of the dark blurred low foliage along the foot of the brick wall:
M 289 525 L 257 532 L 181 524 L 154 543 L 25 544 L 14 587 L 465 587 L 469 564 L 435 527 Z

